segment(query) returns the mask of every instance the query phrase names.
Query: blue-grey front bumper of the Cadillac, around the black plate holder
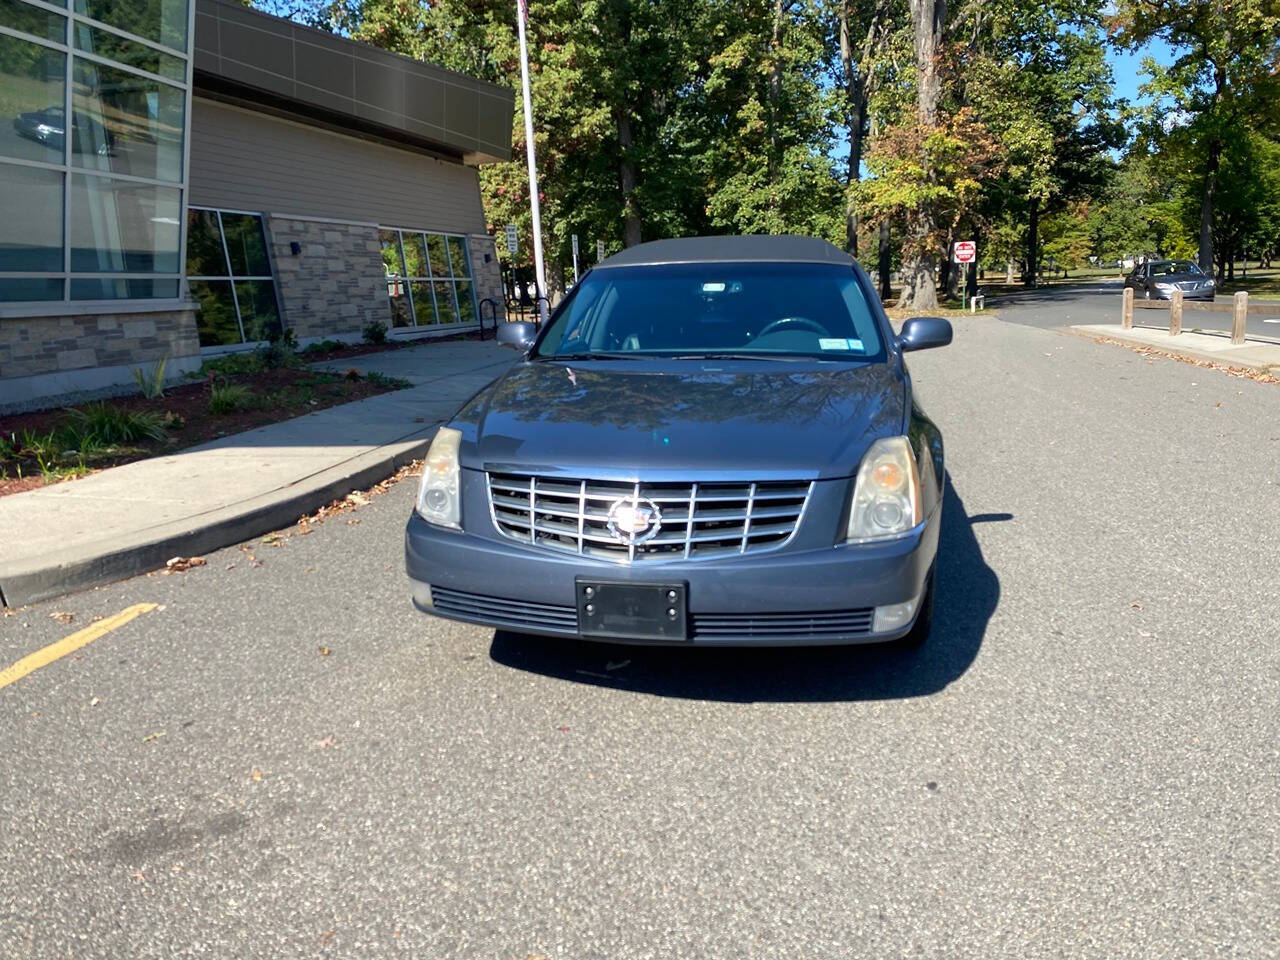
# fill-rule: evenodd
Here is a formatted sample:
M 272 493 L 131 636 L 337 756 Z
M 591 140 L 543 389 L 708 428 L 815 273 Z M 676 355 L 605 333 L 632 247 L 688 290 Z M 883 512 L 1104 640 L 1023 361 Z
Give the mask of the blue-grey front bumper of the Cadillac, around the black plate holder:
M 689 640 L 680 645 L 881 643 L 913 626 L 874 632 L 872 612 L 922 595 L 941 513 L 934 509 L 915 531 L 884 543 L 631 566 L 444 530 L 413 513 L 404 566 L 419 609 L 524 634 L 580 636 L 575 580 L 584 577 L 685 582 Z

